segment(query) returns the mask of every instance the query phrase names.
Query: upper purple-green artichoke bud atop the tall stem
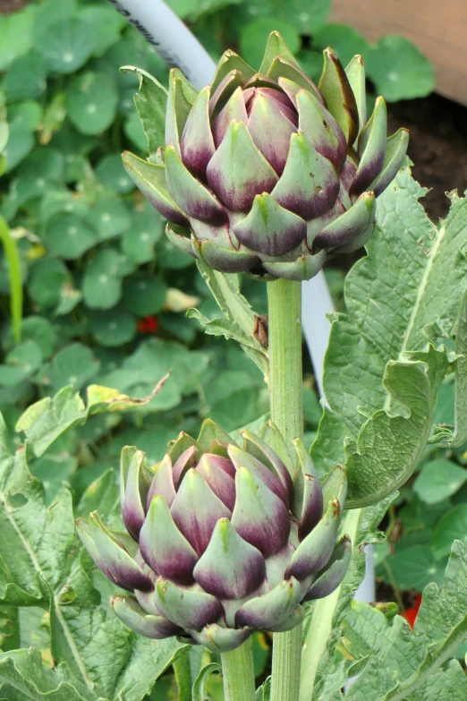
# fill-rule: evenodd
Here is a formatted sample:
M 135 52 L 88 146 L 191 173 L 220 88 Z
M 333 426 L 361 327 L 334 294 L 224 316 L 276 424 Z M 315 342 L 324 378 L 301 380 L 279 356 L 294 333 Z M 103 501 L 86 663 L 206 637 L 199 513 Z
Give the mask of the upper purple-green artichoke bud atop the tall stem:
M 197 93 L 172 71 L 166 149 L 158 163 L 130 153 L 123 161 L 176 225 L 166 229 L 176 246 L 223 272 L 305 280 L 327 252 L 367 243 L 375 198 L 401 166 L 408 133 L 386 140 L 383 98 L 367 121 L 361 56 L 345 71 L 330 49 L 324 57 L 319 89 L 277 32 L 259 73 L 227 51 Z

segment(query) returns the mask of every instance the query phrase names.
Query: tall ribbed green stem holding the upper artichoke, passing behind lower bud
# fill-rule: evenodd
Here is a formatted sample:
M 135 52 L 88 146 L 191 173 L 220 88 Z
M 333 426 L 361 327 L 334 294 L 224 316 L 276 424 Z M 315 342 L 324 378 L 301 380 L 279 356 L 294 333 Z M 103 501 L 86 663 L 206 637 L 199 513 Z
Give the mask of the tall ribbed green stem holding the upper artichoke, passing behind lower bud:
M 267 283 L 271 419 L 292 448 L 303 433 L 301 283 Z M 301 626 L 274 634 L 271 701 L 298 701 Z

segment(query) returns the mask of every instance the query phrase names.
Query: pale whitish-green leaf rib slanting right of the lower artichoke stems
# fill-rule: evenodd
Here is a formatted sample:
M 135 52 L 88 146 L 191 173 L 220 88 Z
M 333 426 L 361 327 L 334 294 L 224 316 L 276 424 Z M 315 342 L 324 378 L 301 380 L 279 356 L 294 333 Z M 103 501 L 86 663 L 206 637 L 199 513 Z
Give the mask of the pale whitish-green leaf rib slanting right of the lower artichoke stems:
M 342 533 L 349 534 L 352 543 L 355 543 L 360 517 L 361 509 L 352 509 L 343 518 Z M 338 586 L 332 594 L 318 599 L 314 604 L 301 658 L 300 701 L 311 701 L 313 698 L 319 660 L 326 650 L 327 638 L 333 628 L 335 606 L 340 592 L 341 586 Z

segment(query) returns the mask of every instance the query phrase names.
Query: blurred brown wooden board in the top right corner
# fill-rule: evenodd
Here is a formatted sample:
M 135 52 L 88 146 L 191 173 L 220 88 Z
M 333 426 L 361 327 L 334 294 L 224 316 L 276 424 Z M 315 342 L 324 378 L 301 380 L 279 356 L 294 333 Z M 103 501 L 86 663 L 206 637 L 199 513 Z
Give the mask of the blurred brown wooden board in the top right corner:
M 437 92 L 467 105 L 467 0 L 333 0 L 330 21 L 369 41 L 410 38 L 434 65 Z

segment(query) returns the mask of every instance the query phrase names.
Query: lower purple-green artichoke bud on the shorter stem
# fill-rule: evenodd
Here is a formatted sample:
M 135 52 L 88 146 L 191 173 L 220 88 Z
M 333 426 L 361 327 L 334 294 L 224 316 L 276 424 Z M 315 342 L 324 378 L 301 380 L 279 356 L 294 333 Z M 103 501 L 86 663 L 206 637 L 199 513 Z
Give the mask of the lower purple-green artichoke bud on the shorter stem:
M 293 470 L 272 424 L 281 455 Z M 265 440 L 243 431 L 240 449 L 217 424 L 198 440 L 181 433 L 154 468 L 144 453 L 122 454 L 123 523 L 108 529 L 95 512 L 79 519 L 98 568 L 132 596 L 116 594 L 117 616 L 142 636 L 183 636 L 213 652 L 233 650 L 254 630 L 290 630 L 304 602 L 339 586 L 351 557 L 337 541 L 346 477 L 336 466 L 321 485 L 310 455 L 294 441 L 293 482 Z

